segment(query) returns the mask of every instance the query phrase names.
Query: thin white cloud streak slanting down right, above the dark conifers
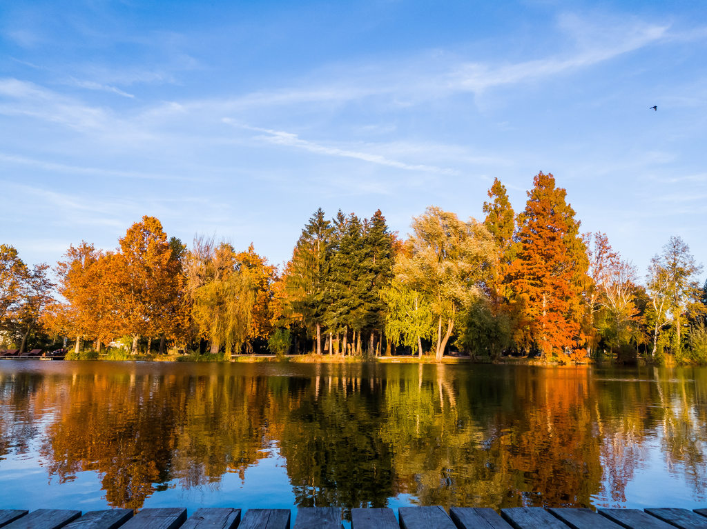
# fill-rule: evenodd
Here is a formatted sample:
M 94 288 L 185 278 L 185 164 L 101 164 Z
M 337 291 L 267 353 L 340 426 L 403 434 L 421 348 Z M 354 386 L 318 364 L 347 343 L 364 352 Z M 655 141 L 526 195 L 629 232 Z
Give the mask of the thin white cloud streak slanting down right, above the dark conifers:
M 297 134 L 293 134 L 291 132 L 275 131 L 272 129 L 262 129 L 260 127 L 240 125 L 230 118 L 223 118 L 222 121 L 233 126 L 238 126 L 242 129 L 262 132 L 266 134 L 266 136 L 255 136 L 255 139 L 266 141 L 267 143 L 273 143 L 275 145 L 285 145 L 287 147 L 307 150 L 310 153 L 323 154 L 327 156 L 354 158 L 356 160 L 363 160 L 364 162 L 385 165 L 387 167 L 395 167 L 397 169 L 403 169 L 407 171 L 433 172 L 436 174 L 459 174 L 456 170 L 448 169 L 445 167 L 436 167 L 434 165 L 424 164 L 410 164 L 406 162 L 400 162 L 399 160 L 391 160 L 390 158 L 387 158 L 382 155 L 367 153 L 360 150 L 349 150 L 338 147 L 331 147 L 328 145 L 322 145 L 313 141 L 303 140 Z

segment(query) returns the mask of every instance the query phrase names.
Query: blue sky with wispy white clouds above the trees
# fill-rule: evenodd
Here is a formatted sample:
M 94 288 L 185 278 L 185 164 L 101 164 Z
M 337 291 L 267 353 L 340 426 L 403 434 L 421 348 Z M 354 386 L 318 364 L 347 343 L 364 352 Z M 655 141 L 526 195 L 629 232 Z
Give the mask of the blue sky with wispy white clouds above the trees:
M 658 110 L 650 109 L 657 105 Z M 291 256 L 322 208 L 409 233 L 539 171 L 645 275 L 707 263 L 704 1 L 0 1 L 0 243 L 143 215 Z M 705 274 L 702 275 L 702 278 Z

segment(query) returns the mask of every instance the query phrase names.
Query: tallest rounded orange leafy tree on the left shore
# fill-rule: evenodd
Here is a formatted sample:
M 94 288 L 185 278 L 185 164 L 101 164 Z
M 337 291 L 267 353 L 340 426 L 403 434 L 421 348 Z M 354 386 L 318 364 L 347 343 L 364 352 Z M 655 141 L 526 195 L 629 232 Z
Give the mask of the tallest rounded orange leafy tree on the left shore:
M 180 263 L 160 221 L 144 216 L 119 240 L 113 272 L 119 292 L 122 332 L 132 335 L 132 354 L 140 336 L 173 336 L 185 321 Z

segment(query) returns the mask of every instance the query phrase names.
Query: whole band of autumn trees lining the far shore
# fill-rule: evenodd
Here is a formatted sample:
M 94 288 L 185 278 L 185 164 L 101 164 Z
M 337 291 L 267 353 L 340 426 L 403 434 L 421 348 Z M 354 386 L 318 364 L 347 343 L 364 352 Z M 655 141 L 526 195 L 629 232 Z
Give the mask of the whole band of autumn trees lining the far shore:
M 483 221 L 429 207 L 411 234 L 378 210 L 318 209 L 278 270 L 251 245 L 197 237 L 187 247 L 145 216 L 117 249 L 81 242 L 50 268 L 0 245 L 0 341 L 124 357 L 249 352 L 375 357 L 450 352 L 479 359 L 707 362 L 707 283 L 680 237 L 645 282 L 607 236 L 580 221 L 540 172 L 515 213 L 496 179 Z

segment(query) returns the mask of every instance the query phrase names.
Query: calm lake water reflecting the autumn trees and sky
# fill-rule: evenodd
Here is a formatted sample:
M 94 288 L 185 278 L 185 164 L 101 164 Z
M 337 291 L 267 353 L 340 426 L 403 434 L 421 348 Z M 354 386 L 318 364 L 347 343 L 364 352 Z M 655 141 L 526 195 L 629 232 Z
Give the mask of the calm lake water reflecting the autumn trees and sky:
M 0 362 L 0 508 L 694 508 L 706 452 L 706 368 Z

